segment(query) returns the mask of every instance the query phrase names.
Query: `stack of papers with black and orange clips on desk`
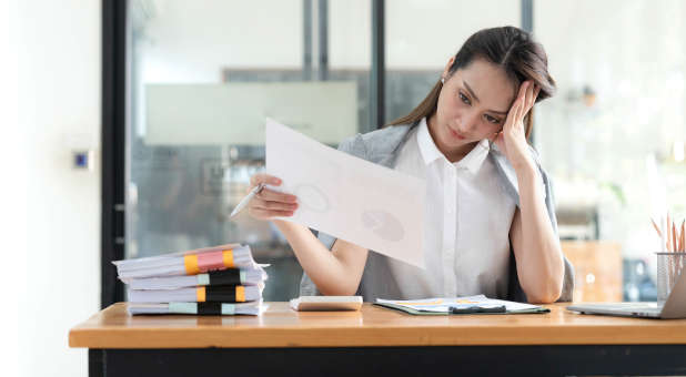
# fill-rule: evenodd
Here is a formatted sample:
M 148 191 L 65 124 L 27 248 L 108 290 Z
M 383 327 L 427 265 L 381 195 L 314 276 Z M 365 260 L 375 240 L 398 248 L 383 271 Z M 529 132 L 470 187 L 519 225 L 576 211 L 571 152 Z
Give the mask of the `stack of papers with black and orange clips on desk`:
M 113 262 L 127 284 L 129 314 L 259 315 L 263 265 L 250 246 L 220 245 Z

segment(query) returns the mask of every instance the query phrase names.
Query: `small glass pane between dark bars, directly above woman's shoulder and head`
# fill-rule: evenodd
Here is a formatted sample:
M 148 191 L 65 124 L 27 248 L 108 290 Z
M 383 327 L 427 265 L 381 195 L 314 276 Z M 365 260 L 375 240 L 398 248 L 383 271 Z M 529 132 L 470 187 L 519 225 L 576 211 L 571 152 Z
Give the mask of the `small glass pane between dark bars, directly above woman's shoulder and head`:
M 386 1 L 386 122 L 428 94 L 448 59 L 474 32 L 521 24 L 519 1 Z

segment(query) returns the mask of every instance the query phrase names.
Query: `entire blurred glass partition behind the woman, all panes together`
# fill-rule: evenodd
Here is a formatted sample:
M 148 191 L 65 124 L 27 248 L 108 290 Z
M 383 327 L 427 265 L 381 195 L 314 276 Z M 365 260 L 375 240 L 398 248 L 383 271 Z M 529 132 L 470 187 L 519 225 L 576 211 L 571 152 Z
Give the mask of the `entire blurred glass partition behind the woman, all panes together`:
M 127 257 L 248 243 L 272 264 L 264 298 L 296 296 L 302 271 L 281 234 L 228 215 L 264 169 L 265 116 L 332 146 L 381 125 L 372 2 L 128 3 Z M 519 1 L 385 1 L 386 122 L 420 103 L 470 34 L 521 13 Z M 536 109 L 534 143 L 578 300 L 654 299 L 650 217 L 686 215 L 684 19 L 679 0 L 534 2 L 558 84 Z

